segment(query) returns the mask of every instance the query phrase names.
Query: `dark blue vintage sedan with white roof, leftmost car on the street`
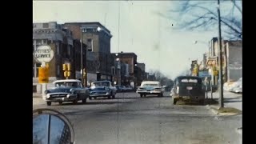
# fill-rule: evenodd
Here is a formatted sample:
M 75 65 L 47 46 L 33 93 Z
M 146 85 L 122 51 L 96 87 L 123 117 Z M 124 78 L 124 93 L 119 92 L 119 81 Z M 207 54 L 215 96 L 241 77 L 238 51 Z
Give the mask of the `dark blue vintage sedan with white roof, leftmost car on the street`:
M 77 103 L 82 100 L 86 103 L 86 98 L 90 96 L 90 90 L 83 87 L 82 82 L 77 79 L 63 79 L 53 83 L 54 88 L 46 90 L 42 96 L 47 106 L 50 106 L 51 102 L 58 102 L 61 105 L 62 102 Z

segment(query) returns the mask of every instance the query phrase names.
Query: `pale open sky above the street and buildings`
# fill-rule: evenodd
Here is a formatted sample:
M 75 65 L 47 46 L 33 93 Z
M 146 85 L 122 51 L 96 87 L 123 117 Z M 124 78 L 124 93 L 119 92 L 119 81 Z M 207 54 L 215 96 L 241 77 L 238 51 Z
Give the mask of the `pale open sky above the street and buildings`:
M 174 2 L 34 1 L 33 22 L 100 22 L 113 35 L 111 53 L 134 52 L 137 61 L 146 64 L 147 72 L 160 70 L 175 78 L 190 69 L 191 60 L 202 59 L 202 54 L 208 52 L 207 43 L 218 37 L 218 30 L 174 30 L 177 22 L 156 14 L 166 14 Z

